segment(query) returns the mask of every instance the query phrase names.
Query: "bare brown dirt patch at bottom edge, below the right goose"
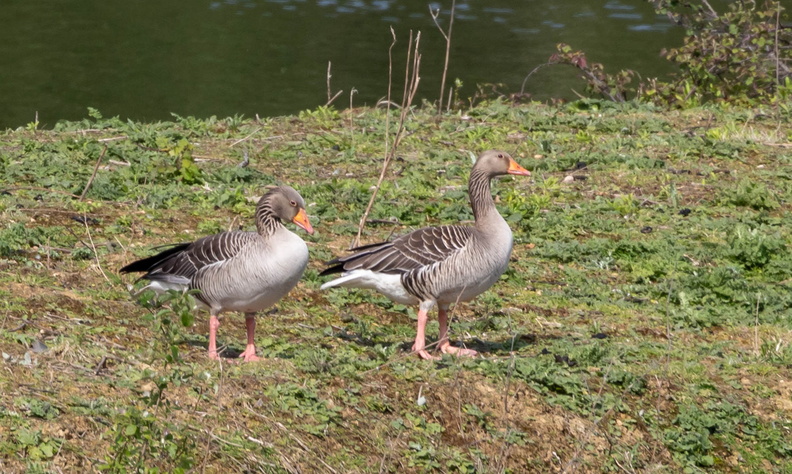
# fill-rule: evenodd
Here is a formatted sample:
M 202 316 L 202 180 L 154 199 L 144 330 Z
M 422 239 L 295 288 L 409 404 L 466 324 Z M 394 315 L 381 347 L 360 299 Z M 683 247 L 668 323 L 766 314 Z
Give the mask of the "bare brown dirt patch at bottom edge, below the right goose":
M 392 383 L 382 380 L 383 387 Z M 600 471 L 610 459 L 611 450 L 625 451 L 634 445 L 648 449 L 654 444 L 647 433 L 616 420 L 621 437 L 618 446 L 612 446 L 593 422 L 548 405 L 521 382 L 512 381 L 506 394 L 505 387 L 462 372 L 452 381 L 417 383 L 413 391 L 399 394 L 406 397 L 401 402 L 414 404 L 420 391 L 426 398 L 427 418 L 445 429 L 443 441 L 462 451 L 472 447 L 482 451 L 491 462 L 485 467 L 487 471 Z M 474 414 L 472 406 L 484 414 Z M 657 450 L 658 446 L 653 448 Z M 657 462 L 670 458 L 662 449 L 653 456 Z

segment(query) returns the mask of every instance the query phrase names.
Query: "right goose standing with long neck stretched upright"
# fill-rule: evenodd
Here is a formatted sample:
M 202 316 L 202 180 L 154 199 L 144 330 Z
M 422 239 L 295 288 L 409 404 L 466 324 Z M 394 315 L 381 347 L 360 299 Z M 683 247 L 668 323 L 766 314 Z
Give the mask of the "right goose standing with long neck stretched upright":
M 418 330 L 412 349 L 424 359 L 427 313 L 438 306 L 439 348 L 443 353 L 474 356 L 476 351 L 454 347 L 448 341 L 447 311 L 457 301 L 469 301 L 486 291 L 506 270 L 512 249 L 509 225 L 492 200 L 490 181 L 495 176 L 531 173 L 508 153 L 486 151 L 470 172 L 468 193 L 474 226 L 425 227 L 391 242 L 352 249 L 352 255 L 328 262 L 320 275 L 341 273 L 321 286 L 370 288 L 401 304 L 419 304 Z

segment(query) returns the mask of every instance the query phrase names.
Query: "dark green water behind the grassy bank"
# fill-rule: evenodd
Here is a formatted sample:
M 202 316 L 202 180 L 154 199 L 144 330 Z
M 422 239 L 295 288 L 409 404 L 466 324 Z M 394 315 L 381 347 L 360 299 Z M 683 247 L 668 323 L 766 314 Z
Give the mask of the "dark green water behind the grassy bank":
M 450 1 L 441 6 L 448 23 Z M 421 31 L 419 95 L 436 100 L 444 40 L 426 1 L 390 0 L 6 0 L 0 3 L 0 128 L 87 116 L 135 120 L 296 113 L 327 101 L 372 105 L 387 93 L 393 26 L 395 77 L 409 31 Z M 525 75 L 566 42 L 608 70 L 644 77 L 671 71 L 659 58 L 682 31 L 642 0 L 460 1 L 449 77 L 462 96 L 477 83 L 518 91 Z M 527 91 L 537 99 L 583 89 L 568 67 L 545 68 Z M 401 86 L 396 88 L 401 90 Z

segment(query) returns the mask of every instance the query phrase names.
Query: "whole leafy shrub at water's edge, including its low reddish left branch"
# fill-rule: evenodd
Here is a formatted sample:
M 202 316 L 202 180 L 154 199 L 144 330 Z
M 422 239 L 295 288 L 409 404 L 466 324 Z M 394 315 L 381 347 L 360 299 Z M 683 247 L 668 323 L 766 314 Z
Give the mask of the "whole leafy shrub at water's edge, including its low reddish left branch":
M 781 24 L 780 2 L 728 2 L 718 13 L 708 2 L 650 0 L 659 13 L 686 28 L 684 44 L 661 54 L 679 66 L 671 81 L 631 83 L 637 73 L 605 72 L 582 51 L 558 44 L 547 64 L 577 68 L 586 91 L 614 102 L 630 98 L 690 107 L 713 100 L 753 103 L 781 102 L 792 95 L 792 30 Z

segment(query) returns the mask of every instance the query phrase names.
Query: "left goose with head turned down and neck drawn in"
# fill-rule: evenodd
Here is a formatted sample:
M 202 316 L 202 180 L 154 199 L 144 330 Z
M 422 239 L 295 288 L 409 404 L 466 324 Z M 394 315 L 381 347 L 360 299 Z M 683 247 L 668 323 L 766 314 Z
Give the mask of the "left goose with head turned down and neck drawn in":
M 178 244 L 120 271 L 146 272 L 140 279 L 149 280 L 145 288 L 157 292 L 199 290 L 196 298 L 210 314 L 210 359 L 220 358 L 220 313 L 245 313 L 247 347 L 239 357 L 256 361 L 256 312 L 274 305 L 294 288 L 308 264 L 308 247 L 283 226 L 281 219 L 313 234 L 303 198 L 289 186 L 278 186 L 262 196 L 256 206 L 256 232 L 222 232 Z

